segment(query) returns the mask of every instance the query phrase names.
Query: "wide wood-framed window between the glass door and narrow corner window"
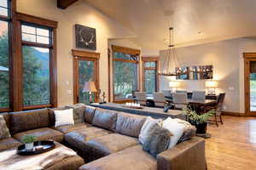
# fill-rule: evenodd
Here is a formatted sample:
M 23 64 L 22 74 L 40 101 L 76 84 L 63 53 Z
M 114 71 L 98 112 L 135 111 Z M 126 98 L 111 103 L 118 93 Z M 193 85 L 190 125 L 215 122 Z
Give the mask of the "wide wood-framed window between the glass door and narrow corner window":
M 113 100 L 131 99 L 138 90 L 140 51 L 113 46 Z

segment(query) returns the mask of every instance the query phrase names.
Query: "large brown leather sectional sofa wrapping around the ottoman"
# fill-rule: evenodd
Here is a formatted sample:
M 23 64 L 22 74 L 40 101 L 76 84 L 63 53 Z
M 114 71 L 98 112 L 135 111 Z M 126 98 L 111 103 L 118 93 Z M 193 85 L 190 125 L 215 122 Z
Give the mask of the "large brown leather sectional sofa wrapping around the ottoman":
M 73 108 L 74 125 L 55 127 L 55 110 Z M 76 150 L 79 156 L 65 160 L 68 166 L 53 169 L 80 170 L 203 170 L 205 141 L 193 137 L 171 150 L 150 156 L 138 143 L 145 116 L 103 110 L 88 105 L 2 113 L 12 138 L 0 140 L 0 151 L 19 146 L 26 134 L 38 140 L 53 139 Z M 81 157 L 84 159 L 81 159 Z M 85 161 L 85 164 L 84 164 Z M 84 164 L 84 165 L 83 165 Z

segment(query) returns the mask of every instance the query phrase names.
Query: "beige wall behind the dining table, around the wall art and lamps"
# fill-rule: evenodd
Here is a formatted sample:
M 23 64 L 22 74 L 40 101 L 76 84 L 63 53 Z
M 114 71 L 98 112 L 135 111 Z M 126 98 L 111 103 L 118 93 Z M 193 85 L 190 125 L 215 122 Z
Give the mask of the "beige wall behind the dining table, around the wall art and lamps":
M 244 52 L 256 52 L 256 40 L 240 38 L 222 42 L 212 42 L 186 48 L 178 48 L 180 64 L 213 65 L 213 79 L 218 80 L 217 92 L 225 92 L 226 111 L 244 113 Z M 160 56 L 165 56 L 165 51 Z M 160 89 L 169 89 L 170 77 L 160 78 Z M 180 89 L 189 91 L 205 89 L 205 81 L 181 81 Z

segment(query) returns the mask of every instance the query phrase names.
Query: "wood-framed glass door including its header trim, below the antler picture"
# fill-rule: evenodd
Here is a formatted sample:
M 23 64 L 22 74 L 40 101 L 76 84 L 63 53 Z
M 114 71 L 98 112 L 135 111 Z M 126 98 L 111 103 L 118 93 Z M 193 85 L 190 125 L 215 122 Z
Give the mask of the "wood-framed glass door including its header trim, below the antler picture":
M 90 103 L 89 93 L 84 92 L 86 82 L 94 82 L 98 92 L 92 93 L 94 102 L 99 101 L 99 59 L 100 54 L 73 49 L 73 102 Z

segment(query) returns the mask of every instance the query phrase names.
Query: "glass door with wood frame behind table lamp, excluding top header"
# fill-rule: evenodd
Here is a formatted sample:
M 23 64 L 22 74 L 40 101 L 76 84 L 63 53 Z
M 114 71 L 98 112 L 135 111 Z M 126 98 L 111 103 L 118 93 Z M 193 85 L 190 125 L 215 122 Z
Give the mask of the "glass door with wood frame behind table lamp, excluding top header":
M 83 92 L 85 82 L 95 82 L 99 90 L 98 59 L 75 57 L 74 59 L 74 103 L 89 103 L 89 95 Z M 98 100 L 94 96 L 95 102 Z

